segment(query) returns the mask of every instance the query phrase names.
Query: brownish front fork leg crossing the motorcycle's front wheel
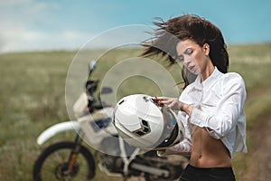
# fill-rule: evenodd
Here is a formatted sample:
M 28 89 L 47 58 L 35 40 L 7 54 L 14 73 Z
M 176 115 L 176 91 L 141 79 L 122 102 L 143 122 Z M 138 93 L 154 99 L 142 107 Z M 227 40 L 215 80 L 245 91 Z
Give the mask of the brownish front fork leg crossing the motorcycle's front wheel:
M 70 151 L 67 174 L 71 173 L 72 168 L 73 168 L 74 164 L 76 163 L 76 160 L 77 160 L 77 157 L 78 157 L 78 154 L 79 154 L 79 150 L 81 148 L 82 138 L 79 136 L 79 134 L 77 134 L 74 142 L 75 142 L 75 148 L 73 148 Z

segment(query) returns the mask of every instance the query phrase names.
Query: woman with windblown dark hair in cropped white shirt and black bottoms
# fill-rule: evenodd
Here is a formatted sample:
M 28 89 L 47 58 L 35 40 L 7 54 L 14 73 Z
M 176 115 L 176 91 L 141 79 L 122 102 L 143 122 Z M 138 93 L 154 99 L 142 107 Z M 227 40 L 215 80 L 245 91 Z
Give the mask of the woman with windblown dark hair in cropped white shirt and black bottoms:
M 180 180 L 235 180 L 233 154 L 247 152 L 246 89 L 238 73 L 227 72 L 229 54 L 220 29 L 190 14 L 154 24 L 158 29 L 154 38 L 143 43 L 143 55 L 162 53 L 172 64 L 182 63 L 180 98 L 158 100 L 179 110 L 186 129 L 182 142 L 158 155 L 191 154 Z

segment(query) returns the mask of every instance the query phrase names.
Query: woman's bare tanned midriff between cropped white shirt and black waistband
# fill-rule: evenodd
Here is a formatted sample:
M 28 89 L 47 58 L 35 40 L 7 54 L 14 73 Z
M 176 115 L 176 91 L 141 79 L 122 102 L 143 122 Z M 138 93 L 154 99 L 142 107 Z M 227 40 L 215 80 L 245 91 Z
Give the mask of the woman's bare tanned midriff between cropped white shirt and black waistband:
M 193 167 L 231 167 L 229 150 L 220 139 L 212 138 L 207 130 L 197 127 L 192 134 Z

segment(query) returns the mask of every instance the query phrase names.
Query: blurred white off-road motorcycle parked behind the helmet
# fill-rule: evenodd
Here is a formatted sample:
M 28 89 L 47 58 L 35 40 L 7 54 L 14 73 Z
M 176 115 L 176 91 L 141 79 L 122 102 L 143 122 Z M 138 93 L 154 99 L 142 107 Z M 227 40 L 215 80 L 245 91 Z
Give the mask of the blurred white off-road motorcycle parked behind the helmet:
M 95 68 L 96 62 L 90 62 L 89 78 Z M 61 132 L 77 133 L 74 141 L 53 143 L 42 150 L 33 165 L 33 180 L 92 180 L 97 165 L 107 176 L 122 176 L 124 180 L 131 176 L 173 180 L 181 175 L 182 161 L 157 157 L 154 150 L 142 152 L 118 137 L 112 123 L 113 107 L 95 96 L 98 80 L 89 79 L 85 88 L 73 106 L 77 119 L 52 125 L 37 138 L 38 145 L 42 145 Z M 103 88 L 100 93 L 111 91 Z

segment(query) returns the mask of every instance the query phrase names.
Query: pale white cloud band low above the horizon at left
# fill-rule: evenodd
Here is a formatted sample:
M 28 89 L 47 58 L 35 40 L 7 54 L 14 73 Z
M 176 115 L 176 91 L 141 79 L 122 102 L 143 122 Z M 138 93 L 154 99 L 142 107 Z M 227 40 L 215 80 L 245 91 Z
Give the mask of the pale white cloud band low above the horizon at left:
M 77 49 L 86 43 L 90 36 L 87 33 L 71 31 L 45 33 L 21 28 L 12 30 L 6 29 L 6 32 L 2 31 L 0 38 L 0 52 L 22 52 Z

